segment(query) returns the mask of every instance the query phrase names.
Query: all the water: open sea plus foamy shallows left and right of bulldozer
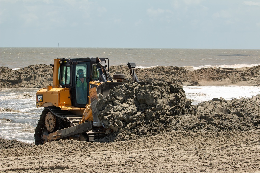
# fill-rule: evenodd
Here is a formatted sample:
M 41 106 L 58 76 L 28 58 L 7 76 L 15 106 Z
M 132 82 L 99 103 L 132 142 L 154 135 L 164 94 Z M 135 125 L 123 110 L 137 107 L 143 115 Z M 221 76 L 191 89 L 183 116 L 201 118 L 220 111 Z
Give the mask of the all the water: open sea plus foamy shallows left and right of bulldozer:
M 260 65 L 260 50 L 244 49 L 142 49 L 142 48 L 0 48 L 0 66 L 16 70 L 33 64 L 51 64 L 53 59 L 109 58 L 109 66 L 134 62 L 136 68 L 178 66 L 188 70 L 203 67 L 252 67 Z M 183 86 L 196 105 L 223 97 L 250 98 L 260 94 L 258 86 Z M 0 137 L 34 142 L 34 130 L 43 108 L 36 108 L 35 88 L 0 88 Z

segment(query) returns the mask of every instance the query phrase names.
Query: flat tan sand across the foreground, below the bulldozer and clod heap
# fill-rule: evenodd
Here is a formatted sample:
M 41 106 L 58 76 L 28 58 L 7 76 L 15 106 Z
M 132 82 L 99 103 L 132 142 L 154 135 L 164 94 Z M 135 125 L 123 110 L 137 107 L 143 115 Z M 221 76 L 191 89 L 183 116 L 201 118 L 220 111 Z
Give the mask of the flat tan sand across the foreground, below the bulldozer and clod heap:
M 169 132 L 139 140 L 60 140 L 1 149 L 1 172 L 257 172 L 259 133 Z

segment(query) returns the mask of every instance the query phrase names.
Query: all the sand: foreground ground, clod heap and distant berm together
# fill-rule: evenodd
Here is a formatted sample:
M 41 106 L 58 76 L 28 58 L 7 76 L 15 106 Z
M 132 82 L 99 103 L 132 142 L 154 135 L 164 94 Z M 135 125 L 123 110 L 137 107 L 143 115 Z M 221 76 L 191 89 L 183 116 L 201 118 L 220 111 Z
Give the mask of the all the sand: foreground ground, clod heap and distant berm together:
M 119 86 L 103 98 L 109 104 L 99 100 L 99 114 L 107 113 L 103 122 L 109 122 L 108 136 L 93 143 L 60 140 L 42 146 L 0 139 L 0 172 L 259 172 L 260 95 L 191 105 L 181 87 L 259 85 L 259 68 L 136 69 L 140 81 L 161 83 L 145 88 Z M 0 84 L 2 88 L 43 87 L 51 82 L 50 70 L 47 65 L 15 72 L 0 67 Z M 128 73 L 126 66 L 109 70 Z M 119 90 L 128 94 L 122 98 L 116 94 Z M 145 93 L 155 95 L 144 100 Z

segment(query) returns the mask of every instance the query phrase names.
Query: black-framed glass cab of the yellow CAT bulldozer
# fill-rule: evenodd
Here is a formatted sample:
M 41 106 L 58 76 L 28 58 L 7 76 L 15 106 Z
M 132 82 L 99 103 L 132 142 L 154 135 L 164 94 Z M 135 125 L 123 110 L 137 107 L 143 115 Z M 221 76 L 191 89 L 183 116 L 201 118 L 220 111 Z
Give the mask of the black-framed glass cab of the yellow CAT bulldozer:
M 105 61 L 105 58 L 100 58 Z M 59 67 L 60 87 L 70 88 L 72 106 L 89 104 L 89 82 L 100 81 L 96 58 L 61 59 Z

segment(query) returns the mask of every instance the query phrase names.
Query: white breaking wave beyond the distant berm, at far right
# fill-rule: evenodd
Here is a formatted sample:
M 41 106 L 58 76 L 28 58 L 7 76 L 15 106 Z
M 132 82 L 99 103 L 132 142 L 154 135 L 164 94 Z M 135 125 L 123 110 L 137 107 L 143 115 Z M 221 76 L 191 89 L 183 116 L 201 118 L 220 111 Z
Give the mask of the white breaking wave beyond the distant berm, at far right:
M 184 66 L 185 69 L 187 70 L 197 70 L 200 68 L 242 68 L 242 67 L 254 67 L 258 66 L 260 64 L 234 64 L 234 65 L 203 65 L 199 67 L 194 67 L 194 66 Z

